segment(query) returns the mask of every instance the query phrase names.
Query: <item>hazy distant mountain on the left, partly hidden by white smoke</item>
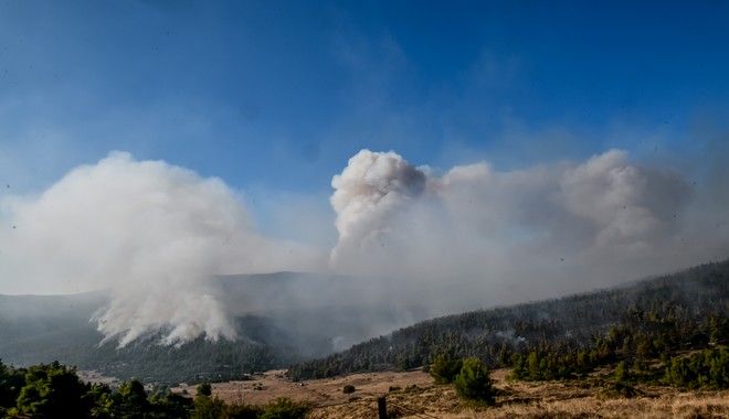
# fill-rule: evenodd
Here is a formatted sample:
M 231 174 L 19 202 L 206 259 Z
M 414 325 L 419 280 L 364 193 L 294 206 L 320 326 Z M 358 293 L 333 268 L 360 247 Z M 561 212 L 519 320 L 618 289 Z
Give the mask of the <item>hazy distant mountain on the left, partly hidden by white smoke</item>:
M 103 335 L 89 320 L 108 304 L 105 292 L 0 296 L 0 358 L 18 366 L 57 359 L 147 382 L 222 380 L 324 356 L 424 319 L 413 314 L 418 308 L 378 294 L 378 281 L 387 279 L 367 279 L 366 287 L 363 280 L 297 272 L 215 278 L 241 339 L 201 337 L 180 347 L 157 345 L 159 336 L 99 346 Z

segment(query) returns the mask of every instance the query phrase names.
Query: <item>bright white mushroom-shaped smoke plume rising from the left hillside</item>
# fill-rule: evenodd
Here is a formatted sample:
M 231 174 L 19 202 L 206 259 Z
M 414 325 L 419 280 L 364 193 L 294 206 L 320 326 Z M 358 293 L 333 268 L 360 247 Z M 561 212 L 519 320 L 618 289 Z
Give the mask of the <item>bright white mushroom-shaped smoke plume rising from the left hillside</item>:
M 233 339 L 214 275 L 314 269 L 316 259 L 260 236 L 242 196 L 220 180 L 122 152 L 4 210 L 12 228 L 3 228 L 0 269 L 17 281 L 11 290 L 110 289 L 95 321 L 120 345 L 158 333 L 165 344 Z

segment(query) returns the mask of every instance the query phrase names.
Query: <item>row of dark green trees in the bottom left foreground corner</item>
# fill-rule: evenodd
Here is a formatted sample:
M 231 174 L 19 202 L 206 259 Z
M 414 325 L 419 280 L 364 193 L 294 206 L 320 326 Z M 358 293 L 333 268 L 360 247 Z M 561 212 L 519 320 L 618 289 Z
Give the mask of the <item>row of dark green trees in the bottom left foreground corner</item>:
M 198 386 L 194 398 L 169 390 L 151 395 L 138 379 L 112 389 L 82 382 L 57 362 L 13 368 L 0 362 L 0 417 L 20 418 L 304 418 L 307 405 L 278 399 L 265 407 L 229 405 Z

